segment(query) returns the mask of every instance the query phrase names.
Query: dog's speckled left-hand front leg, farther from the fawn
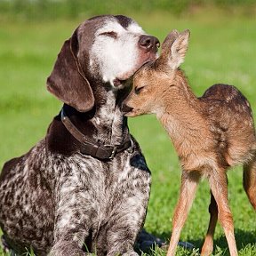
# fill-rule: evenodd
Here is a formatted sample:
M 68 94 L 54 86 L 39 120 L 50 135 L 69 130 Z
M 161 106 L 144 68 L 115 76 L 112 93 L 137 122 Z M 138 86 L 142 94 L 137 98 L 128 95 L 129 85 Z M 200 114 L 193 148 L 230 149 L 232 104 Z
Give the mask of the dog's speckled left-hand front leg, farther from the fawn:
M 92 202 L 87 199 L 91 198 L 88 192 L 82 188 L 67 188 L 63 184 L 60 196 L 57 197 L 60 200 L 56 204 L 58 208 L 55 209 L 54 242 L 50 256 L 86 255 L 82 248 L 85 238 L 89 236 L 95 209 Z

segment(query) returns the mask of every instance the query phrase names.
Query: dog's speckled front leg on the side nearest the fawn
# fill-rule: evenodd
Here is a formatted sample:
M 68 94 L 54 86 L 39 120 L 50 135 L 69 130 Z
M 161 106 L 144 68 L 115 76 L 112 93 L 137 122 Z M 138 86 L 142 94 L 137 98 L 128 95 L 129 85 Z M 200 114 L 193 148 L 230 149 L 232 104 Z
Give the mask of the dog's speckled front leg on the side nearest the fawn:
M 135 155 L 128 163 L 113 195 L 107 230 L 108 256 L 138 255 L 133 246 L 146 217 L 151 179 L 144 157 Z

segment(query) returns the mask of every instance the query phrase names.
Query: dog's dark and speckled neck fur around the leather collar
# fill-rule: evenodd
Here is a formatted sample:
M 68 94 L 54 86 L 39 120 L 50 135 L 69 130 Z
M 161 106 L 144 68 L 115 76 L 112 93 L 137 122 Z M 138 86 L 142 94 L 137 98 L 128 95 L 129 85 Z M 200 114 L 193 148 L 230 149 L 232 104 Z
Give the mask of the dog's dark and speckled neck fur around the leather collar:
M 104 89 L 104 90 L 103 90 Z M 64 105 L 66 115 L 76 128 L 95 143 L 120 145 L 127 139 L 129 130 L 127 117 L 122 114 L 121 104 L 127 90 L 105 90 L 95 92 L 92 110 L 81 113 L 75 108 Z M 98 99 L 99 98 L 99 99 Z M 79 142 L 56 116 L 47 132 L 47 145 L 50 150 L 70 155 L 80 147 Z

